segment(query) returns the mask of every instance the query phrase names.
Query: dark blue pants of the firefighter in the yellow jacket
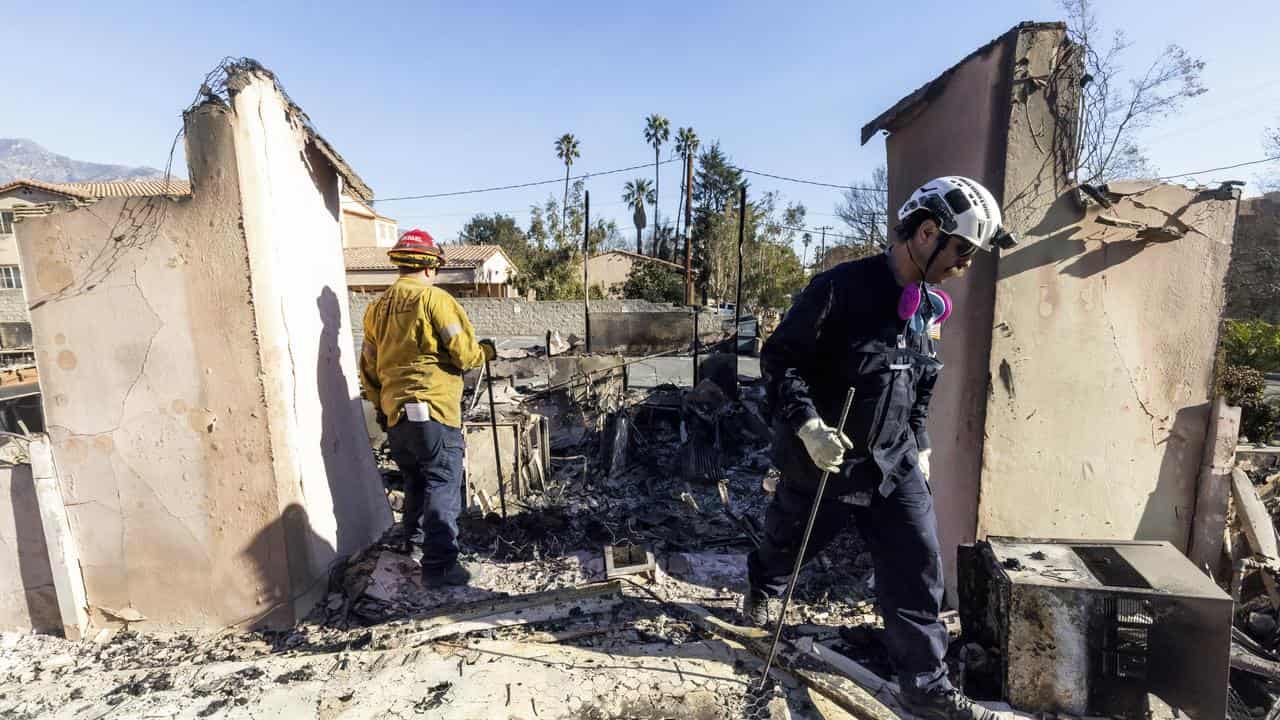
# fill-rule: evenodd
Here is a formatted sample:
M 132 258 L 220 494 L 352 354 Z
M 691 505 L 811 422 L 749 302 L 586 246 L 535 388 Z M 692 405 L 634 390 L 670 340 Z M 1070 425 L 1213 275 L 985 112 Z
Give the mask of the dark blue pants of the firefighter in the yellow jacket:
M 421 520 L 422 566 L 453 564 L 462 511 L 462 430 L 401 418 L 387 437 L 404 475 L 404 539 L 413 538 Z

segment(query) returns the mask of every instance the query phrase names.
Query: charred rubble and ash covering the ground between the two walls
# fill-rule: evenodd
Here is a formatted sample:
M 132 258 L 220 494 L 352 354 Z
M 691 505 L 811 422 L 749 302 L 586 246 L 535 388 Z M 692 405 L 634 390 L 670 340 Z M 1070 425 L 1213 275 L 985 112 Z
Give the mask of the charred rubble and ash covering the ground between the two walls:
M 541 488 L 508 498 L 507 518 L 461 519 L 470 585 L 424 587 L 419 551 L 407 555 L 393 528 L 337 566 L 293 628 L 4 635 L 0 715 L 829 716 L 786 670 L 749 692 L 763 662 L 741 642 L 762 630 L 739 626 L 739 607 L 768 502 L 760 388 L 730 400 L 713 380 L 637 389 L 608 372 L 552 392 L 545 378 L 506 383 L 500 416 L 550 409 L 562 421 Z M 470 418 L 486 413 L 477 402 Z M 714 462 L 681 471 L 691 456 Z M 398 473 L 384 451 L 378 459 L 398 510 Z M 609 580 L 604 546 L 644 548 L 655 566 Z M 786 641 L 874 666 L 872 589 L 869 556 L 842 537 L 801 575 Z M 841 637 L 845 626 L 865 630 Z

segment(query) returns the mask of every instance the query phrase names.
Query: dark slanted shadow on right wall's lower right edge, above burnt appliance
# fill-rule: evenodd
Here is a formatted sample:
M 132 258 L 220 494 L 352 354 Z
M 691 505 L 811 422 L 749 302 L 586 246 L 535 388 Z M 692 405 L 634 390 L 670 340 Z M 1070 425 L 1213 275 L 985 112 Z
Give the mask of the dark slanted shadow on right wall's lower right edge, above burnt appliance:
M 1180 550 L 1187 548 L 1210 410 L 1211 405 L 1206 402 L 1183 407 L 1174 416 L 1174 427 L 1162 441 L 1165 456 L 1160 461 L 1160 478 L 1156 489 L 1147 496 L 1134 539 L 1162 539 Z M 1188 468 L 1192 468 L 1190 473 Z M 1187 505 L 1179 505 L 1179 501 Z

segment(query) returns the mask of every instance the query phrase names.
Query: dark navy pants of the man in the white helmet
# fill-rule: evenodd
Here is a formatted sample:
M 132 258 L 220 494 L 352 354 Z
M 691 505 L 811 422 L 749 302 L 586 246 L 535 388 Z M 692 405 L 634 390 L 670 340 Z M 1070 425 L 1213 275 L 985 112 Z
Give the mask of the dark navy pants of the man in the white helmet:
M 764 539 L 748 559 L 753 588 L 769 596 L 786 593 L 812 507 L 812 492 L 791 489 L 783 477 L 765 514 Z M 805 562 L 851 520 L 858 523 L 872 553 L 876 598 L 884 616 L 884 638 L 899 683 L 909 693 L 947 689 L 950 682 L 942 660 L 947 630 L 938 620 L 942 555 L 928 484 L 913 470 L 888 497 L 877 493 L 869 507 L 824 495 Z

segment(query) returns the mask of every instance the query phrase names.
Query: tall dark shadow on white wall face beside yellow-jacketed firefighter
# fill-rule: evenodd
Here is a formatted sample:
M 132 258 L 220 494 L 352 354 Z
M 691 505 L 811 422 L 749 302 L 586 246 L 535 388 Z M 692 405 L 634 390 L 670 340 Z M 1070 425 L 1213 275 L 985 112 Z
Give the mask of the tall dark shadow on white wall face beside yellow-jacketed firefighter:
M 385 498 L 381 487 L 361 487 L 370 474 L 362 473 L 365 456 L 372 450 L 365 428 L 365 413 L 358 397 L 351 396 L 347 375 L 342 370 L 342 305 L 333 288 L 325 286 L 316 299 L 320 311 L 320 347 L 316 352 L 316 383 L 320 393 L 320 452 L 329 478 L 334 519 L 338 524 L 335 548 L 351 553 L 372 539 L 370 528 L 383 515 L 369 507 L 370 498 Z M 370 460 L 371 461 L 371 460 Z M 372 473 L 376 477 L 376 473 Z M 374 500 L 376 502 L 376 500 Z M 385 502 L 385 500 L 383 500 Z M 389 515 L 387 515 L 389 518 Z

